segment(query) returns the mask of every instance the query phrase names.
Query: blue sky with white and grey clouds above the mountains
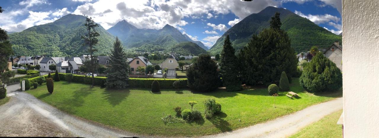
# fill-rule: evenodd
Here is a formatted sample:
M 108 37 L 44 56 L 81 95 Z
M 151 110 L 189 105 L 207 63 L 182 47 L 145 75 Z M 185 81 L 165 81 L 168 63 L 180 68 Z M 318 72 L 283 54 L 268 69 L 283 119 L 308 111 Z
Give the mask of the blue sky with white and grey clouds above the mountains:
M 320 27 L 341 32 L 341 0 L 8 0 L 0 28 L 22 31 L 67 14 L 86 14 L 105 29 L 121 20 L 137 28 L 169 24 L 211 47 L 230 27 L 267 6 L 286 8 Z

